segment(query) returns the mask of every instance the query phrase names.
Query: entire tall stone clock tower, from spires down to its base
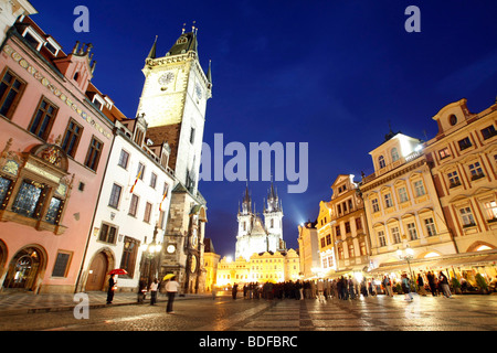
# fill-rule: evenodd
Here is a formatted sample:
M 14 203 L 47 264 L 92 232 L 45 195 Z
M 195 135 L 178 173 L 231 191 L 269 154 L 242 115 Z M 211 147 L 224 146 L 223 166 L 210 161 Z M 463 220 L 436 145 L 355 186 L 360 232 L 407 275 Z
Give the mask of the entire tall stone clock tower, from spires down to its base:
M 137 116 L 148 124 L 151 145 L 171 149 L 168 171 L 175 176 L 163 236 L 161 275 L 175 274 L 183 293 L 203 292 L 205 200 L 198 190 L 207 101 L 212 97 L 211 69 L 199 62 L 197 29 L 184 29 L 171 49 L 157 56 L 157 38 L 142 68 L 144 89 Z

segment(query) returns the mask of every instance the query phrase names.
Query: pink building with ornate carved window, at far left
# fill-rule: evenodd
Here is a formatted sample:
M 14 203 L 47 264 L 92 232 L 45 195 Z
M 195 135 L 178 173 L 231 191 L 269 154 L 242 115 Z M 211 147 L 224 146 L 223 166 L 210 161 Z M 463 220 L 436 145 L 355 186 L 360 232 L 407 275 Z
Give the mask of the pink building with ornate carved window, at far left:
M 91 45 L 65 54 L 30 18 L 0 50 L 0 290 L 73 292 L 113 143 L 86 94 Z

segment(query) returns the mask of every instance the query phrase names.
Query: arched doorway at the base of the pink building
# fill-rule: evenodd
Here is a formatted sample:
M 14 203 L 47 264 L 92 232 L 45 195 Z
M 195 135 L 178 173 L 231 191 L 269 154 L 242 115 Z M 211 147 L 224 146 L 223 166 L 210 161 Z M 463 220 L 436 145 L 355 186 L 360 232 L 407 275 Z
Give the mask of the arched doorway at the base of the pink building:
M 42 264 L 42 253 L 35 247 L 19 250 L 10 261 L 3 287 L 35 290 Z

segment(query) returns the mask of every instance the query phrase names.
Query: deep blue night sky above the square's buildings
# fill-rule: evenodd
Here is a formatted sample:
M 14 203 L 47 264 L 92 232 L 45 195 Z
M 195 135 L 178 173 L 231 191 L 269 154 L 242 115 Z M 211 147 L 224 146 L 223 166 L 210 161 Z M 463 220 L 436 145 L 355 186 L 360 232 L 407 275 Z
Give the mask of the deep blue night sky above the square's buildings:
M 495 0 L 31 0 L 32 18 L 70 52 L 94 44 L 94 84 L 128 117 L 136 115 L 145 57 L 156 35 L 163 55 L 183 23 L 199 28 L 200 62 L 212 60 L 213 98 L 204 141 L 309 143 L 309 188 L 287 194 L 284 238 L 297 247 L 297 225 L 316 220 L 338 174 L 373 172 L 368 154 L 394 131 L 431 139 L 432 117 L 468 99 L 480 111 L 497 96 Z M 76 33 L 73 10 L 89 9 L 89 33 Z M 421 10 L 421 32 L 408 33 L 405 8 Z M 228 159 L 226 159 L 228 160 Z M 268 182 L 251 182 L 258 212 Z M 202 182 L 207 236 L 233 255 L 245 182 Z

